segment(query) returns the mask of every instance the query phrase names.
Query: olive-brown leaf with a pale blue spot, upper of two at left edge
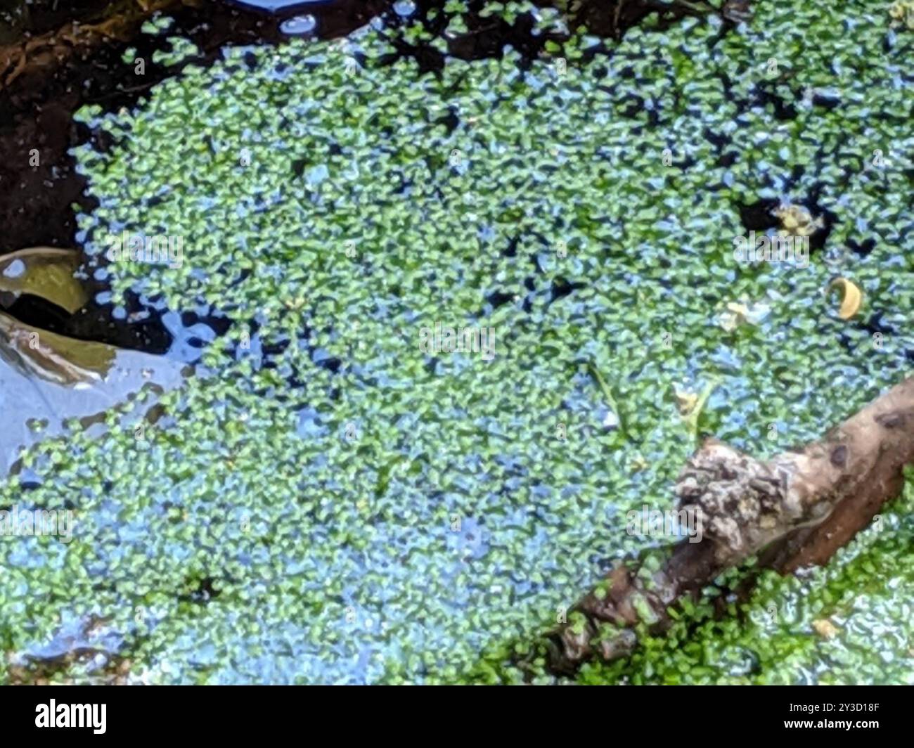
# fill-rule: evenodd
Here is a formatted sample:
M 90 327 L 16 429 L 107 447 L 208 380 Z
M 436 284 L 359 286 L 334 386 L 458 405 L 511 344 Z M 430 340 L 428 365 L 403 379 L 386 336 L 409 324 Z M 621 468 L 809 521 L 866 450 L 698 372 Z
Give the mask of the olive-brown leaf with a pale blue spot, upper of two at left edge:
M 0 291 L 18 297 L 33 294 L 73 314 L 89 301 L 74 273 L 80 253 L 55 247 L 32 247 L 0 257 Z

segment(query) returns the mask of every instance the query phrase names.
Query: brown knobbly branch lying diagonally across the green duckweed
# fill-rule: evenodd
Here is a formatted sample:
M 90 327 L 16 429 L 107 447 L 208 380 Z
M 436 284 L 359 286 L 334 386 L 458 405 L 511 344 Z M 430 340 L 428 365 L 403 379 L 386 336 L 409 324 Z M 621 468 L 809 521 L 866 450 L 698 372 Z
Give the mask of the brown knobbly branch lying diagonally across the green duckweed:
M 824 564 L 897 497 L 914 463 L 914 378 L 887 391 L 806 446 L 760 462 L 708 439 L 675 484 L 679 508 L 701 518 L 700 542 L 684 540 L 659 571 L 615 568 L 547 636 L 549 669 L 569 675 L 593 657 L 611 660 L 672 625 L 668 609 L 696 599 L 720 572 L 758 555 L 783 574 Z M 583 618 L 583 625 L 581 622 Z M 606 631 L 611 636 L 606 636 Z

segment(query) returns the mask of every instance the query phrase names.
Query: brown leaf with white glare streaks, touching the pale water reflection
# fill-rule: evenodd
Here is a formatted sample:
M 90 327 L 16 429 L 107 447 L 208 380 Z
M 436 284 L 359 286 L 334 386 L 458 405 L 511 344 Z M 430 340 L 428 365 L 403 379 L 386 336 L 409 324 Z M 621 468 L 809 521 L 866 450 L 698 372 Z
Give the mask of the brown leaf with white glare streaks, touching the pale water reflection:
M 0 312 L 0 358 L 27 377 L 75 386 L 104 379 L 116 348 L 28 326 Z

